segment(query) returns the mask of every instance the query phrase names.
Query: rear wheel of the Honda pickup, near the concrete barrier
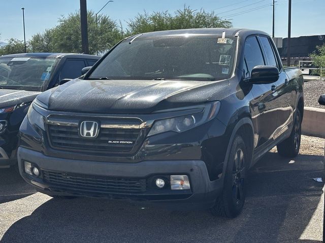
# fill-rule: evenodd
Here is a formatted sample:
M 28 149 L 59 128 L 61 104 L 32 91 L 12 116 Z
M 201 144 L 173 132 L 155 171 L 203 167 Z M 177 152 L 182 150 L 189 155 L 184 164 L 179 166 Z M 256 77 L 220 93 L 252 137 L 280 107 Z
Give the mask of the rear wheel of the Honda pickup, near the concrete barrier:
M 301 113 L 297 110 L 294 127 L 290 137 L 279 143 L 276 148 L 278 153 L 286 158 L 296 157 L 299 153 L 301 142 Z

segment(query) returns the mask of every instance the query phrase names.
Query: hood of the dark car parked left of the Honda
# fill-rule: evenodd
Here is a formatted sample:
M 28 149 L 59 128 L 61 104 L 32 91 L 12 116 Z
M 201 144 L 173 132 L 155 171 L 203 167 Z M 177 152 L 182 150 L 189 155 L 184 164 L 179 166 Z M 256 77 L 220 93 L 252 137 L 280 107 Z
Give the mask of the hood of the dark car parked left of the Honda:
M 33 101 L 41 92 L 0 89 L 0 108 Z

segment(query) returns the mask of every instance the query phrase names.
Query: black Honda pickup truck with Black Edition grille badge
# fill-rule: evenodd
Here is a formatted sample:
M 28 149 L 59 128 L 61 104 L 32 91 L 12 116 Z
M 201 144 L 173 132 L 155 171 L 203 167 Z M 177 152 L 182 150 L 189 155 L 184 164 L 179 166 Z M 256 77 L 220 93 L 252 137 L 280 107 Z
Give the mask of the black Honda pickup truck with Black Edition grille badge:
M 303 83 L 261 31 L 137 34 L 36 98 L 20 127 L 19 170 L 53 197 L 235 217 L 248 169 L 274 146 L 298 154 Z

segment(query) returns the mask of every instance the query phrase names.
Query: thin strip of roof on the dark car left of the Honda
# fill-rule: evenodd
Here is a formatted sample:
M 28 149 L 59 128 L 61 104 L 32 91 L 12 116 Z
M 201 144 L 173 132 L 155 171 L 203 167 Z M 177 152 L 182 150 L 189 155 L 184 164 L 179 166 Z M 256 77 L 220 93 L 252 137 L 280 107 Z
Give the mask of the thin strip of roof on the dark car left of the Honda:
M 95 55 L 87 55 L 87 54 L 74 54 L 74 53 L 18 53 L 18 54 L 10 54 L 4 55 L 0 58 L 14 58 L 14 57 L 52 57 L 52 58 L 62 58 L 62 57 L 70 57 L 70 58 L 87 58 L 87 59 L 100 59 L 99 56 Z

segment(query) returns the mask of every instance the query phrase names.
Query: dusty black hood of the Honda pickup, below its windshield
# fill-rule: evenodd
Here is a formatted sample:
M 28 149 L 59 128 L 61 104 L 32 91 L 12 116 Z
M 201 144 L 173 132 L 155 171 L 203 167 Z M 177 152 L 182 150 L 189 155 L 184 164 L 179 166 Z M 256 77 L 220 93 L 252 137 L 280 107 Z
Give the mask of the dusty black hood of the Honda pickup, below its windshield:
M 206 102 L 228 84 L 228 80 L 74 79 L 42 93 L 37 99 L 54 111 L 144 114 Z

